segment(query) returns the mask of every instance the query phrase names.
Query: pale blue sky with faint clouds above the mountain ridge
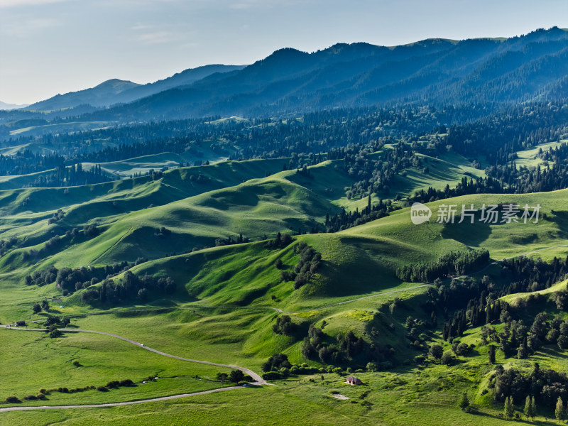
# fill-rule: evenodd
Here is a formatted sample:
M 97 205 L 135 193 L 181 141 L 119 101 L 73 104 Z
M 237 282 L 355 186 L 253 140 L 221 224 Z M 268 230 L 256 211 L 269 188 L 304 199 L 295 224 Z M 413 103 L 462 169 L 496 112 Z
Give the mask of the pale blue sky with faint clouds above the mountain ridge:
M 0 0 L 0 101 L 153 82 L 274 50 L 568 27 L 566 0 Z

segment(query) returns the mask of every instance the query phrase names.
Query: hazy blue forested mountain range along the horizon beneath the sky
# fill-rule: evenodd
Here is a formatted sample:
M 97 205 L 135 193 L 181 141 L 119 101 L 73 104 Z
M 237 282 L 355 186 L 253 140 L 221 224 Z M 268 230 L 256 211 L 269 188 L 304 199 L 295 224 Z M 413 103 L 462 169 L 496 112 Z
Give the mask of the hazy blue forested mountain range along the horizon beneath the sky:
M 269 116 L 393 102 L 500 105 L 568 97 L 568 31 L 514 38 L 428 39 L 275 51 L 246 67 L 208 65 L 144 86 L 109 80 L 30 109 L 109 107 L 81 119 L 127 121 Z

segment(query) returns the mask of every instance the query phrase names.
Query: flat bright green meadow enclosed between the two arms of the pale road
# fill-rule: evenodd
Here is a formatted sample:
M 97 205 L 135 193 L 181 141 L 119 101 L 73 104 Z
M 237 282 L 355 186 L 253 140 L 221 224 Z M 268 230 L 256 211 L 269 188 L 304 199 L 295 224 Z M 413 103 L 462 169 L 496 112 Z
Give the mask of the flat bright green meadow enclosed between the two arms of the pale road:
M 26 405 L 120 402 L 205 391 L 222 387 L 216 381 L 217 372 L 229 373 L 227 368 L 167 358 L 97 334 L 66 333 L 60 339 L 50 339 L 48 334 L 41 332 L 6 329 L 0 332 L 3 342 L 0 353 L 4 377 L 2 399 L 8 395 L 20 398 L 37 395 L 40 388 L 97 387 L 125 379 L 136 383 L 136 386 L 109 392 L 54 391 L 48 395 L 48 400 L 28 401 Z M 75 361 L 80 366 L 75 366 Z M 141 383 L 150 376 L 158 377 L 158 380 Z

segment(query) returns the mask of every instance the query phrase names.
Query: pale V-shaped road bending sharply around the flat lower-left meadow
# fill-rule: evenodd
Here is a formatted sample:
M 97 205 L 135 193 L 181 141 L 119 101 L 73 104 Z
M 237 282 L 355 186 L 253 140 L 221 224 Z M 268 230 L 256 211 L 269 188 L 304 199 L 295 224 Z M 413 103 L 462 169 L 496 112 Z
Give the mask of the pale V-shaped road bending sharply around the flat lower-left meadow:
M 28 328 L 20 328 L 20 327 L 11 327 L 11 325 L 12 324 L 10 324 L 10 327 L 8 325 L 0 325 L 0 327 L 4 328 L 4 329 L 9 329 L 9 330 L 18 330 L 18 331 L 26 331 L 26 332 L 45 332 L 45 329 L 28 329 Z M 158 351 L 157 349 L 152 349 L 152 348 L 150 348 L 150 347 L 148 347 L 148 346 L 146 346 L 146 345 L 144 345 L 140 342 L 136 342 L 132 339 L 128 339 L 127 337 L 119 336 L 119 334 L 112 334 L 112 333 L 106 333 L 106 332 L 95 332 L 93 330 L 84 330 L 84 329 L 61 328 L 60 330 L 62 332 L 104 334 L 105 336 L 110 336 L 110 337 L 114 337 L 116 339 L 124 340 L 124 342 L 128 342 L 130 344 L 138 346 L 141 349 L 146 349 L 147 351 L 151 351 L 151 352 L 158 354 L 158 355 L 168 356 L 169 358 L 180 359 L 181 361 L 195 362 L 195 363 L 198 363 L 198 364 L 207 364 L 209 366 L 218 366 L 218 367 L 233 368 L 233 369 L 236 369 L 236 370 L 241 370 L 243 373 L 249 374 L 249 376 L 251 376 L 254 379 L 254 382 L 251 383 L 251 386 L 263 386 L 263 385 L 270 385 L 271 384 L 271 383 L 267 383 L 261 376 L 259 376 L 254 371 L 249 370 L 249 368 L 244 368 L 244 367 L 239 367 L 239 366 L 231 366 L 231 365 L 227 365 L 227 364 L 219 364 L 219 363 L 216 363 L 216 362 L 200 361 L 200 360 L 197 360 L 197 359 L 189 359 L 189 358 L 183 358 L 182 356 L 175 356 L 175 355 L 171 355 L 171 354 L 166 354 L 165 352 Z M 244 388 L 246 388 L 246 386 L 229 386 L 229 387 L 226 387 L 226 388 L 211 389 L 209 391 L 201 391 L 201 392 L 194 392 L 194 393 L 182 393 L 180 395 L 163 396 L 161 398 L 151 398 L 151 399 L 145 399 L 145 400 L 126 401 L 124 403 L 106 403 L 106 404 L 94 404 L 94 405 L 42 405 L 42 406 L 38 406 L 38 407 L 9 407 L 9 408 L 0 408 L 0 413 L 6 412 L 6 411 L 47 410 L 47 409 L 54 409 L 54 408 L 69 409 L 69 408 L 119 407 L 121 405 L 133 405 L 133 404 L 141 404 L 141 403 L 151 403 L 151 402 L 155 402 L 155 401 L 173 400 L 173 399 L 178 399 L 178 398 L 186 398 L 188 396 L 206 395 L 207 393 L 233 391 L 233 390 L 236 390 L 236 389 L 244 389 Z

